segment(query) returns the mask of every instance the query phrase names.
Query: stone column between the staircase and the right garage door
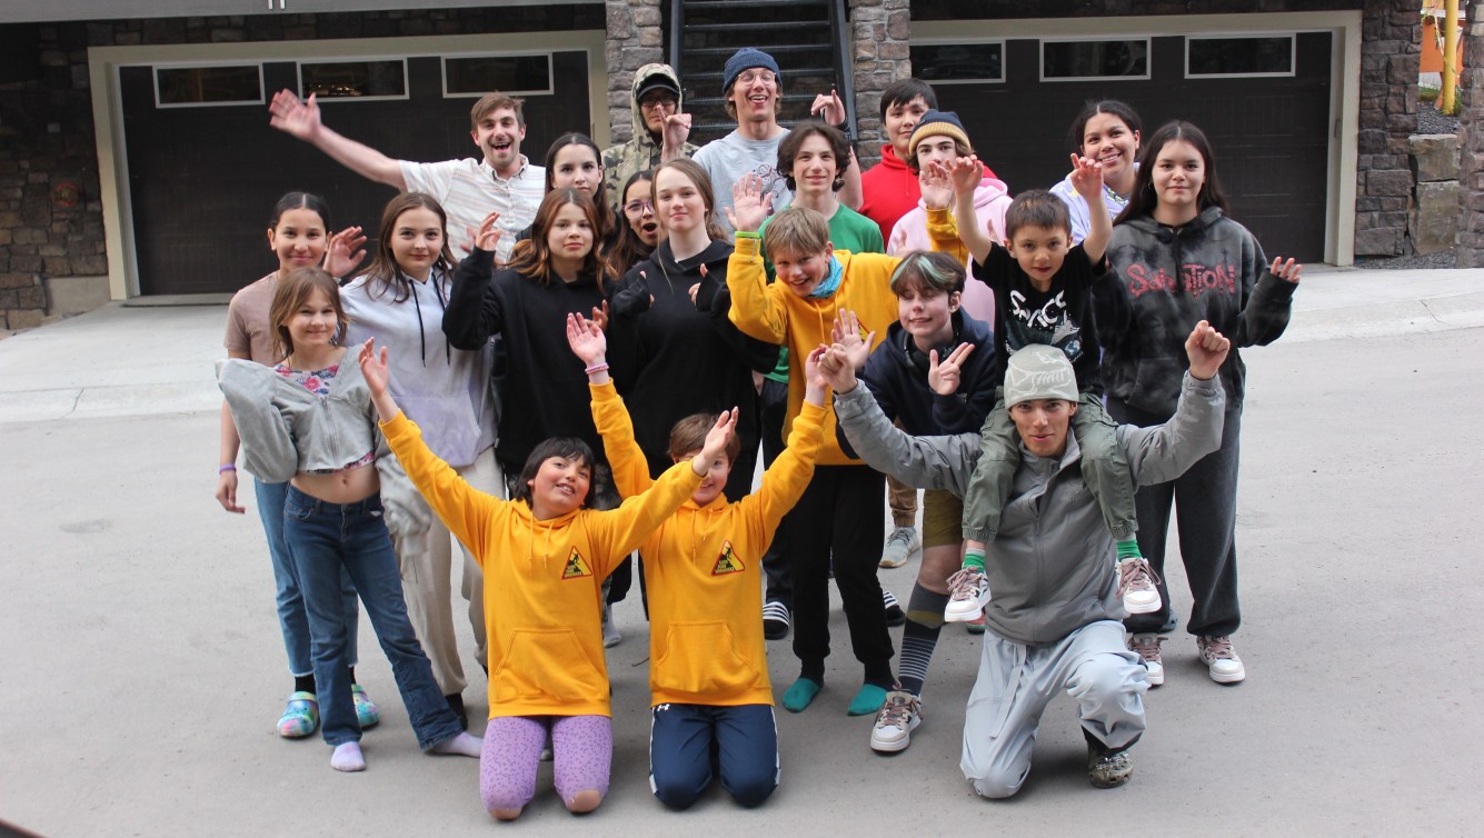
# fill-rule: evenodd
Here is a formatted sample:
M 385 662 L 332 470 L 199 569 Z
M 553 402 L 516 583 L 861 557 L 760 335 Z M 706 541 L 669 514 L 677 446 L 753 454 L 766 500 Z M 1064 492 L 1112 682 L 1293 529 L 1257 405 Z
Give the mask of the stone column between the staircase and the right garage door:
M 881 159 L 881 90 L 913 74 L 908 42 L 913 13 L 908 0 L 850 0 L 850 40 L 855 58 L 855 116 L 861 168 Z

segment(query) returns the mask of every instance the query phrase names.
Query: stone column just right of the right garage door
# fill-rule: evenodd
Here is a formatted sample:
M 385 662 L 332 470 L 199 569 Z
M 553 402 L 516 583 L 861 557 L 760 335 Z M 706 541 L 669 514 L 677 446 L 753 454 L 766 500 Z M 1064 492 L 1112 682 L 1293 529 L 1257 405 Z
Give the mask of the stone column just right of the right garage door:
M 1355 255 L 1404 255 L 1417 131 L 1422 18 L 1416 0 L 1365 0 L 1361 18 L 1361 136 Z

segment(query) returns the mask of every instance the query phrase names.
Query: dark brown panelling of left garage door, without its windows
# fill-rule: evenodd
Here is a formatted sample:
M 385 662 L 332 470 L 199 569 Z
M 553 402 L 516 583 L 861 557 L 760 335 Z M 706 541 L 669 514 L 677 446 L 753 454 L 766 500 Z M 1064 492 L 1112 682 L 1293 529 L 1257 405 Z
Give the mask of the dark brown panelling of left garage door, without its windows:
M 476 153 L 469 138 L 470 98 L 442 96 L 438 58 L 410 58 L 411 98 L 324 102 L 325 123 L 407 160 Z M 527 156 L 539 163 L 561 131 L 588 131 L 586 52 L 552 56 L 554 95 L 527 96 Z M 264 89 L 297 85 L 292 62 L 263 68 Z M 273 270 L 264 230 L 286 191 L 325 196 L 331 224 L 374 234 L 396 194 L 269 126 L 266 105 L 156 108 L 153 68 L 120 68 L 131 208 L 141 294 L 206 294 L 242 288 Z M 559 131 L 556 129 L 558 126 Z

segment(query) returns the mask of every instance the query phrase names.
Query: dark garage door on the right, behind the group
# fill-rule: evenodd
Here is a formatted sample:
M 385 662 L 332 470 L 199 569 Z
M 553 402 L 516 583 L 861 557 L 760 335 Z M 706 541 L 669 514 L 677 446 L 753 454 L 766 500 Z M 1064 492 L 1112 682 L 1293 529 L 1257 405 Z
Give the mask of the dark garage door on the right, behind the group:
M 1129 102 L 1146 136 L 1171 119 L 1193 122 L 1215 147 L 1232 217 L 1269 255 L 1319 261 L 1330 43 L 1330 33 L 914 42 L 913 68 L 1011 191 L 1067 174 L 1067 128 L 1088 99 Z

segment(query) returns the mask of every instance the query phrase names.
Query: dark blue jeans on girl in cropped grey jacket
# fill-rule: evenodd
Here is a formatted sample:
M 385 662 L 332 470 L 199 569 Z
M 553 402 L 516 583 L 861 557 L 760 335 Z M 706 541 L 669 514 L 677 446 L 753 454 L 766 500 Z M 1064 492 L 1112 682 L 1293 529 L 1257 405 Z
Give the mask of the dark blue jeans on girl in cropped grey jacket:
M 283 500 L 283 541 L 304 590 L 325 742 L 334 746 L 361 740 L 350 697 L 350 626 L 341 607 L 343 573 L 350 574 L 381 651 L 392 663 L 417 745 L 426 750 L 463 733 L 407 618 L 396 552 L 381 519 L 381 497 L 326 503 L 289 486 Z

